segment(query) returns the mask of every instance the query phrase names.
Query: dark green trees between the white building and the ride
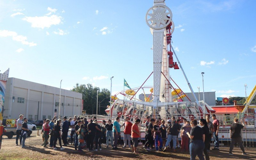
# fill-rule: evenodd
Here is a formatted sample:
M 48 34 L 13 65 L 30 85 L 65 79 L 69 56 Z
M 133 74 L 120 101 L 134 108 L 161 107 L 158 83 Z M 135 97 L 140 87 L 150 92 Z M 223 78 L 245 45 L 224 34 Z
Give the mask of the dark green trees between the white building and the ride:
M 76 84 L 71 91 L 82 93 L 82 99 L 84 100 L 84 108 L 88 114 L 96 114 L 97 106 L 97 90 L 98 93 L 98 114 L 106 114 L 105 109 L 107 108 L 108 101 L 110 99 L 110 92 L 108 89 L 103 88 L 100 90 L 99 87 L 93 87 L 92 84 Z

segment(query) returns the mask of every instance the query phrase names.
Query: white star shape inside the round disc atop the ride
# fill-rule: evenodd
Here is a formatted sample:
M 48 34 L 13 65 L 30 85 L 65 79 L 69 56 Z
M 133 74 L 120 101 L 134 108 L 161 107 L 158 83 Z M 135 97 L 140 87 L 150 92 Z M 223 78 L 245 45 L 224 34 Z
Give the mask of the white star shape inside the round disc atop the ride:
M 160 27 L 160 24 L 163 24 L 165 26 L 166 20 L 169 20 L 167 15 L 170 14 L 169 12 L 166 13 L 165 11 L 165 8 L 157 7 L 156 9 L 153 8 L 153 13 L 148 13 L 148 15 L 151 17 L 150 19 L 148 19 L 149 21 L 151 21 L 151 26 L 155 24 L 157 28 Z

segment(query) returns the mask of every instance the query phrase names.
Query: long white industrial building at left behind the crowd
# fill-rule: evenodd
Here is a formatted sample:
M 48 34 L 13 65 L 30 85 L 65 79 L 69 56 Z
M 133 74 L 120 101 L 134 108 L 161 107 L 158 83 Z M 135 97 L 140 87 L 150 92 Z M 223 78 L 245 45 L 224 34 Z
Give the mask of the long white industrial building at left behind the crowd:
M 6 84 L 4 118 L 18 118 L 20 114 L 30 120 L 51 119 L 56 113 L 74 116 L 82 114 L 82 93 L 72 92 L 18 78 L 9 78 Z

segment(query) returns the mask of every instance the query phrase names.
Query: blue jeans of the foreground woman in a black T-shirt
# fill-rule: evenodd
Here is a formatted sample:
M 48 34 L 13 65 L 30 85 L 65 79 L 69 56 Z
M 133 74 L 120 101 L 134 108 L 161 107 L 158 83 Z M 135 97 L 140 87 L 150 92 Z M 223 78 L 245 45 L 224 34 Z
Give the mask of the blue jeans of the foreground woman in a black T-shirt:
M 193 142 L 189 145 L 190 151 L 190 160 L 195 160 L 196 155 L 198 156 L 199 160 L 204 160 L 204 141 L 203 140 L 193 140 Z

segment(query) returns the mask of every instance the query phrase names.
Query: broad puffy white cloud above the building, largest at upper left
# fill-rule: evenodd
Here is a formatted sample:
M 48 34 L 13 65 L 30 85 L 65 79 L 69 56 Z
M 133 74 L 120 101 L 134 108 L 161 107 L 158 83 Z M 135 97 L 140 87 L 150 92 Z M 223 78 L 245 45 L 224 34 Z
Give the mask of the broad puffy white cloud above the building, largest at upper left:
M 52 25 L 58 25 L 61 23 L 61 16 L 57 16 L 55 14 L 51 16 L 41 16 L 41 17 L 25 17 L 22 20 L 26 20 L 31 23 L 31 27 L 33 28 L 49 28 Z

